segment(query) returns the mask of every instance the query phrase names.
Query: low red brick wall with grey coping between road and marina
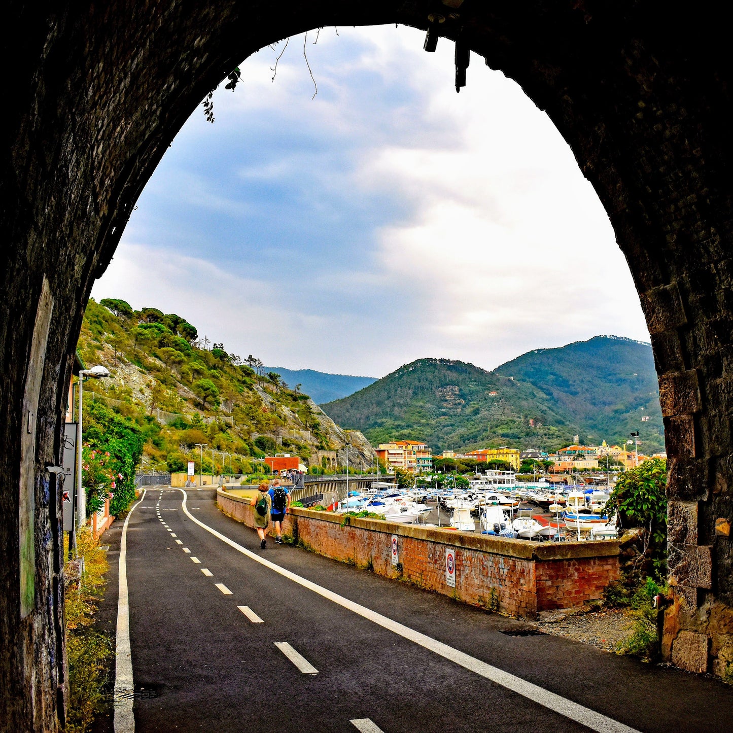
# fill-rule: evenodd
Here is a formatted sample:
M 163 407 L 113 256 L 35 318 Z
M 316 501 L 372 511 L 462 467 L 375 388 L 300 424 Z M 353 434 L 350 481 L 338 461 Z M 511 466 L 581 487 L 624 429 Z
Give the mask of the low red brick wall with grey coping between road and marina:
M 219 490 L 217 501 L 224 514 L 254 526 L 248 499 Z M 292 509 L 284 534 L 319 555 L 527 619 L 539 611 L 600 600 L 605 586 L 619 578 L 619 543 L 614 540 L 556 545 L 354 517 L 345 523 L 341 515 L 312 509 Z M 455 553 L 455 588 L 446 583 L 449 549 Z

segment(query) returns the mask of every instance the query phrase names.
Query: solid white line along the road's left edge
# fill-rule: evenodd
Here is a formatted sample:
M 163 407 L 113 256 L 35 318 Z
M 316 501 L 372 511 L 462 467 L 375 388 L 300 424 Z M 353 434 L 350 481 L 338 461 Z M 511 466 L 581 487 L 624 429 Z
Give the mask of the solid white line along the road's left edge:
M 133 658 L 130 650 L 130 599 L 128 597 L 128 523 L 141 501 L 130 509 L 122 526 L 122 539 L 119 541 L 119 581 L 117 594 L 117 641 L 114 663 L 114 733 L 133 733 Z

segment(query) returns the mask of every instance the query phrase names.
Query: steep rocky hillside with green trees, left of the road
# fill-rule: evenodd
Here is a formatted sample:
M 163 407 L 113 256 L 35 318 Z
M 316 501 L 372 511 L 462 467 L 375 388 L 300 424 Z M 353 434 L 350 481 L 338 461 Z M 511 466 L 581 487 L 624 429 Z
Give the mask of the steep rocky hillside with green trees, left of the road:
M 78 354 L 87 367 L 102 364 L 111 372 L 85 383 L 85 442 L 109 452 L 113 434 L 125 433 L 137 468 L 185 471 L 193 460 L 197 473 L 228 473 L 224 452 L 232 473 L 251 473 L 262 470 L 257 459 L 277 450 L 318 471 L 319 452 L 336 452 L 342 465 L 347 445 L 350 465 L 372 465 L 361 433 L 341 430 L 309 395 L 265 372 L 258 358 L 229 353 L 177 314 L 90 300 Z M 201 444 L 207 447 L 199 465 Z M 119 481 L 129 482 L 135 465 L 123 472 L 118 463 L 108 471 L 111 480 L 123 474 Z

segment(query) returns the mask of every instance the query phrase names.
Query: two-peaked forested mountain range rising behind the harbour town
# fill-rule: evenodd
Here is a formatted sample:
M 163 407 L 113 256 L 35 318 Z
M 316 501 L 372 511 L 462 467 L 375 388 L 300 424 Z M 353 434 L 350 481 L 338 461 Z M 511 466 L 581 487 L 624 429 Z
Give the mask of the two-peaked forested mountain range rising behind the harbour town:
M 424 440 L 436 451 L 556 449 L 576 433 L 581 441 L 620 442 L 631 430 L 639 430 L 644 451 L 664 447 L 652 348 L 616 336 L 531 351 L 492 372 L 419 359 L 322 407 L 372 443 Z

